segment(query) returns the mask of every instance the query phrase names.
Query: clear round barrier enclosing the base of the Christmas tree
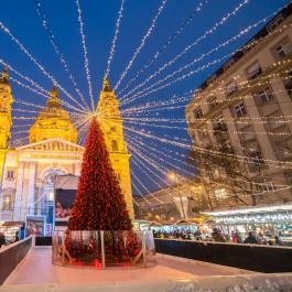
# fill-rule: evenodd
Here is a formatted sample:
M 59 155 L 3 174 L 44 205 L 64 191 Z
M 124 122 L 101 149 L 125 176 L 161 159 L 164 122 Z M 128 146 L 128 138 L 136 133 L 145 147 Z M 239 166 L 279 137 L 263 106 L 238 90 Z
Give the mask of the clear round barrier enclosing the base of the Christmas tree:
M 52 262 L 60 266 L 105 269 L 148 268 L 156 263 L 152 231 L 55 231 L 52 246 Z

